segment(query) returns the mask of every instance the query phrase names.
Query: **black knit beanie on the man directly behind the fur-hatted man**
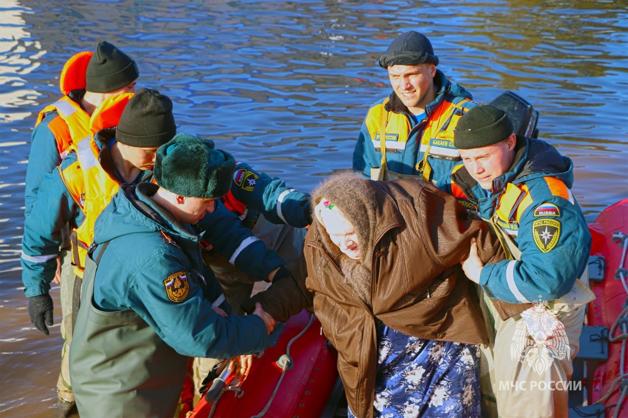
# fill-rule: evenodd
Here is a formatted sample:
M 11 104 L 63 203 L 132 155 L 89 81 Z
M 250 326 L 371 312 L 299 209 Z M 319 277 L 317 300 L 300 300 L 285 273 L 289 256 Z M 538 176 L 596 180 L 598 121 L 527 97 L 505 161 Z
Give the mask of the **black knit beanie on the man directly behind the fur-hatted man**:
M 157 90 L 139 88 L 126 104 L 116 139 L 132 147 L 158 147 L 176 134 L 172 101 Z

